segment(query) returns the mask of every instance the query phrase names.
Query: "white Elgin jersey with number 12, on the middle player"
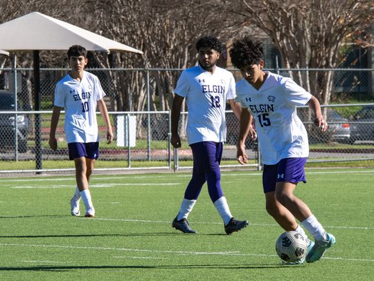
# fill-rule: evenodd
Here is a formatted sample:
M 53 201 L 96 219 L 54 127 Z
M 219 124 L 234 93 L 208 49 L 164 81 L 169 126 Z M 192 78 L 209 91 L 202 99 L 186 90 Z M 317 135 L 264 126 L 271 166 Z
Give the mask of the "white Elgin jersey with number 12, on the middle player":
M 231 72 L 216 66 L 212 75 L 200 66 L 188 68 L 181 73 L 175 93 L 186 98 L 188 144 L 226 140 L 226 100 L 236 97 Z

